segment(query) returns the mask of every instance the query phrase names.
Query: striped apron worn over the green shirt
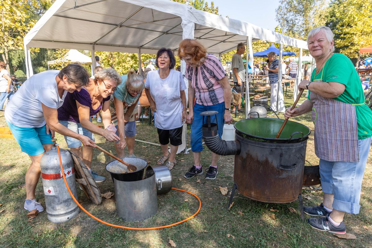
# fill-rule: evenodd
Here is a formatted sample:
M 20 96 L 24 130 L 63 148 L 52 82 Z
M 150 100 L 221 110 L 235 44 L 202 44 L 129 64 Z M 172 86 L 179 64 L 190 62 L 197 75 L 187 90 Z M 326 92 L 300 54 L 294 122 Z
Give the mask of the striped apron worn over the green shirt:
M 313 82 L 323 82 L 323 69 L 320 78 Z M 310 100 L 314 103 L 311 120 L 315 126 L 315 154 L 318 158 L 332 162 L 358 162 L 355 105 L 361 104 L 347 104 L 314 92 L 310 92 Z

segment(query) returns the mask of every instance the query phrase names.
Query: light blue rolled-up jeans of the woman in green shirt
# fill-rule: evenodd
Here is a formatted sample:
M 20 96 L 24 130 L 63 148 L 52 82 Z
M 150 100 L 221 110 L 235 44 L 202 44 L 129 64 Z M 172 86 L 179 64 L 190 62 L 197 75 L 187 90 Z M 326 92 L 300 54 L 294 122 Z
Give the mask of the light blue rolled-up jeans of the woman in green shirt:
M 332 207 L 345 213 L 358 214 L 364 169 L 371 137 L 358 140 L 359 162 L 319 161 L 320 181 L 324 193 L 333 194 Z

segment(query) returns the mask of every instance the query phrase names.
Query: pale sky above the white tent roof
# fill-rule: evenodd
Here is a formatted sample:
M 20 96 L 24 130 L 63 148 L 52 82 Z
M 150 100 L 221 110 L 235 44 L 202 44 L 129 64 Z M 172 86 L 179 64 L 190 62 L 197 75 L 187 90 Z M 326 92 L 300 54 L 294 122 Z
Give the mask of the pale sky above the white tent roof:
M 205 1 L 211 6 L 211 0 Z M 218 13 L 222 16 L 249 22 L 272 31 L 278 26 L 275 9 L 279 6 L 279 0 L 213 0 L 213 2 L 218 6 Z

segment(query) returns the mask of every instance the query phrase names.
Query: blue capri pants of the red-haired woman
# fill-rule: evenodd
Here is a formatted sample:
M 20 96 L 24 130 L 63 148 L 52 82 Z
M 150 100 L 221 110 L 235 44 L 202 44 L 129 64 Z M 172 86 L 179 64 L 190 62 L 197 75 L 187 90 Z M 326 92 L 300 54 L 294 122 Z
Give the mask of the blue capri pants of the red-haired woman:
M 224 114 L 225 114 L 225 102 L 221 102 L 220 104 L 210 105 L 210 106 L 203 106 L 200 104 L 195 103 L 194 105 L 194 120 L 191 124 L 191 134 L 190 134 L 190 143 L 191 143 L 191 150 L 193 152 L 201 152 L 203 150 L 202 139 L 203 139 L 203 132 L 202 132 L 202 125 L 207 123 L 207 118 L 200 115 L 201 112 L 204 111 L 218 111 L 217 114 L 217 127 L 218 127 L 218 136 L 222 137 L 222 131 L 224 130 Z M 216 123 L 215 115 L 211 115 L 211 123 Z

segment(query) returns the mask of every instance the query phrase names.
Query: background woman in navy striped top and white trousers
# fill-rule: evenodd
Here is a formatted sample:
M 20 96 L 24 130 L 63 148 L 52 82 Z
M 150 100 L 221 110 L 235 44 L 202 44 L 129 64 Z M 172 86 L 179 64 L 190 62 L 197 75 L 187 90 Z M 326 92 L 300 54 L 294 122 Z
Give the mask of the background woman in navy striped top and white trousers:
M 272 110 L 275 112 L 285 112 L 284 107 L 284 96 L 282 87 L 279 87 L 279 59 L 276 58 L 276 53 L 270 52 L 267 54 L 269 62 L 265 67 L 265 70 L 269 71 L 269 81 L 270 81 L 270 108 L 267 110 Z M 279 87 L 279 89 L 278 89 Z M 278 92 L 279 90 L 279 92 Z M 279 101 L 278 101 L 279 98 Z

